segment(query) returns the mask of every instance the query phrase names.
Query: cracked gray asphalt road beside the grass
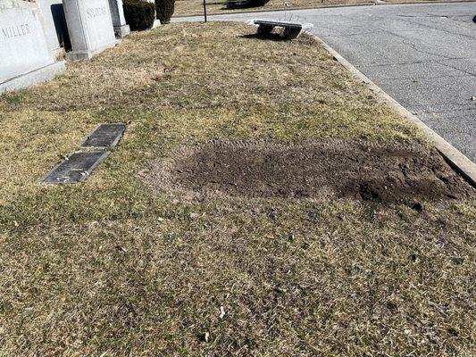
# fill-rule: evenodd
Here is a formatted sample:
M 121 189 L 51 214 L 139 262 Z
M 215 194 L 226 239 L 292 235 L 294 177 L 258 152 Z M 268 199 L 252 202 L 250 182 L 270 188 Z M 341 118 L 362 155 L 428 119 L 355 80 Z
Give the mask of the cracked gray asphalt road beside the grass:
M 255 12 L 209 20 L 313 23 L 313 33 L 476 162 L 474 15 L 476 2 Z

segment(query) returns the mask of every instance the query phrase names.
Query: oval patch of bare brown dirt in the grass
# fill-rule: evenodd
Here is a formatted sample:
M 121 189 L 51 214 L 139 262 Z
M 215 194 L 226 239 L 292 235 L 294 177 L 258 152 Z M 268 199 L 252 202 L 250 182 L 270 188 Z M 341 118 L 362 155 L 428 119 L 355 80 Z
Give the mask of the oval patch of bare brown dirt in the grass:
M 418 208 L 419 200 L 474 195 L 438 152 L 415 145 L 213 141 L 182 146 L 147 171 L 149 185 L 186 199 L 354 197 Z

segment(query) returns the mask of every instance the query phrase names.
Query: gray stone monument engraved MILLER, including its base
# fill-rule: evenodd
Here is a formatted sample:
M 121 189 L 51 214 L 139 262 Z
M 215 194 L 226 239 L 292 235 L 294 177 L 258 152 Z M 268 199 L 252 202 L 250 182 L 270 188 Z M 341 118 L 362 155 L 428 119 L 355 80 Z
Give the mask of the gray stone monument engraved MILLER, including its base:
M 0 94 L 63 73 L 49 50 L 38 4 L 0 0 Z

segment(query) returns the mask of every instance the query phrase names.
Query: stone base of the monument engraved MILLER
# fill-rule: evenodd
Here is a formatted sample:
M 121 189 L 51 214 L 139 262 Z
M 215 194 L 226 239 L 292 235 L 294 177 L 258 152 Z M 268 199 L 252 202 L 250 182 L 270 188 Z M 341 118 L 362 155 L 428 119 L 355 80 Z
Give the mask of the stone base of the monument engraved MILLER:
M 7 79 L 3 83 L 0 83 L 0 95 L 13 90 L 25 89 L 34 84 L 43 83 L 47 80 L 54 79 L 54 77 L 63 74 L 66 71 L 64 61 L 54 62 L 45 67 L 38 68 L 38 70 L 29 71 L 28 73 L 21 74 Z

